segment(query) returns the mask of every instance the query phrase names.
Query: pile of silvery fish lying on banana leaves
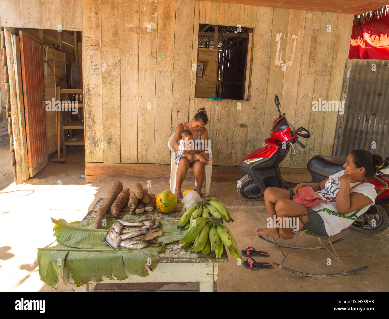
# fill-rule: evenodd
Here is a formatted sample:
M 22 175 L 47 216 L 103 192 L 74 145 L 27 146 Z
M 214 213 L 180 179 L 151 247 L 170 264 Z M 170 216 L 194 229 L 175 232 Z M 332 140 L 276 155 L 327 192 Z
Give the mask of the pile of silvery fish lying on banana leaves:
M 128 249 L 142 249 L 149 244 L 162 244 L 154 238 L 162 236 L 160 222 L 155 222 L 152 217 L 141 220 L 119 220 L 109 229 L 105 237 L 105 243 L 114 249 L 121 247 Z M 144 235 L 144 236 L 142 236 Z

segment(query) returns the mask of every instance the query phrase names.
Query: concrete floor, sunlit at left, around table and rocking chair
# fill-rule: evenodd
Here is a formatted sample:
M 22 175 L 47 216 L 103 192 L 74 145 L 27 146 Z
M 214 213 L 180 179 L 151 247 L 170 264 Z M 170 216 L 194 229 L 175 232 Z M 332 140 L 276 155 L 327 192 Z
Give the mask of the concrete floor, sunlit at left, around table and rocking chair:
M 54 240 L 50 217 L 68 222 L 81 220 L 100 197 L 104 197 L 111 182 L 86 183 L 84 156 L 81 147 L 69 150 L 66 164 L 51 160 L 34 178 L 22 185 L 10 180 L 9 144 L 0 140 L 0 291 L 72 291 L 70 285 L 60 284 L 58 290 L 48 287 L 39 279 L 37 247 L 44 247 Z M 8 142 L 9 143 L 9 142 Z M 123 178 L 124 185 L 147 179 Z M 193 178 L 187 177 L 182 190 L 193 189 Z M 4 185 L 5 184 L 5 185 Z M 3 185 L 3 186 L 1 186 Z M 1 189 L 3 187 L 3 189 Z M 168 180 L 152 180 L 156 194 L 168 188 Z M 205 189 L 205 183 L 203 186 Z M 263 201 L 244 201 L 238 197 L 236 182 L 211 183 L 209 196 L 221 199 L 234 223 L 228 227 L 235 235 L 240 249 L 255 247 L 269 253 L 268 258 L 254 257 L 257 261 L 280 263 L 278 248 L 259 239 L 256 227 L 266 226 Z M 340 236 L 336 236 L 338 238 Z M 289 273 L 277 267 L 268 270 L 247 270 L 237 266 L 235 259 L 219 264 L 218 291 L 388 291 L 389 230 L 377 235 L 359 233 L 348 229 L 345 238 L 335 245 L 346 270 L 368 265 L 361 273 L 346 277 L 308 278 Z M 303 245 L 304 239 L 300 239 Z M 307 245 L 318 245 L 315 237 L 307 236 Z M 327 259 L 331 258 L 331 266 Z M 324 249 L 294 250 L 285 266 L 308 273 L 338 273 L 341 267 Z M 93 287 L 91 287 L 93 288 Z

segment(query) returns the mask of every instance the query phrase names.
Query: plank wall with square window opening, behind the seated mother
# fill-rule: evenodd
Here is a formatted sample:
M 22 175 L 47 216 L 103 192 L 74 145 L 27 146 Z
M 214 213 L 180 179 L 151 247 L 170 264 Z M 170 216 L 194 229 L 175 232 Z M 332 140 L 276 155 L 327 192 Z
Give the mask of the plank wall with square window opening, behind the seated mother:
M 175 127 L 205 107 L 214 164 L 238 165 L 269 136 L 275 94 L 289 122 L 312 133 L 283 166 L 331 154 L 337 113 L 313 112 L 312 101 L 340 100 L 351 14 L 198 0 L 82 5 L 86 162 L 168 164 Z M 254 28 L 248 101 L 195 98 L 199 23 Z

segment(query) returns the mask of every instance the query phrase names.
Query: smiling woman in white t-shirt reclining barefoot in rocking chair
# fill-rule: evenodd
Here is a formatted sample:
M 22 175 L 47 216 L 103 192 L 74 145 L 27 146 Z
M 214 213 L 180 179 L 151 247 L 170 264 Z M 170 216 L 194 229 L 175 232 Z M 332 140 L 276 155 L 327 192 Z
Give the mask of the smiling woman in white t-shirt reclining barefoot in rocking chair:
M 274 215 L 276 219 L 282 220 L 284 217 L 292 217 L 296 224 L 279 225 L 276 222 L 268 223 L 271 227 L 256 229 L 256 233 L 262 236 L 272 236 L 273 238 L 293 239 L 296 235 L 292 232 L 294 229 L 305 230 L 309 229 L 319 236 L 334 236 L 343 229 L 352 224 L 351 219 L 330 215 L 323 211 L 311 213 L 322 208 L 329 208 L 341 215 L 350 216 L 355 211 L 358 217 L 362 215 L 371 205 L 374 205 L 377 192 L 373 184 L 367 182 L 367 179 L 375 174 L 381 174 L 380 169 L 388 166 L 386 158 L 379 155 L 373 155 L 364 150 L 352 151 L 345 164 L 344 171 L 339 171 L 336 174 L 329 176 L 326 180 L 320 183 L 300 183 L 293 191 L 280 189 L 277 187 L 268 187 L 265 190 L 265 205 L 270 220 L 273 221 Z M 365 182 L 365 183 L 361 183 Z M 357 185 L 361 183 L 360 185 Z M 355 185 L 357 185 L 355 187 Z M 323 200 L 336 197 L 335 201 L 323 203 L 319 202 L 312 208 L 307 208 L 293 201 L 293 196 L 301 187 L 310 186 L 315 192 L 321 196 Z M 350 188 L 353 188 L 350 191 Z M 309 215 L 306 215 L 310 213 Z M 305 216 L 301 216 L 305 215 Z M 300 217 L 301 216 L 301 217 Z M 289 219 L 290 220 L 290 219 Z M 286 224 L 286 223 L 285 223 Z M 291 226 L 291 227 L 286 227 Z

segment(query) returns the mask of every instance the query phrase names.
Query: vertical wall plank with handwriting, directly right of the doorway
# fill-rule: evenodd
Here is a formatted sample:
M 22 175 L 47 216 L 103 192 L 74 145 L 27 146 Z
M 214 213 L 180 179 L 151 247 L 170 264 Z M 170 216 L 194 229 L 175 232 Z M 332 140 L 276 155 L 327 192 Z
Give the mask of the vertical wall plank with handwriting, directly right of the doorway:
M 101 0 L 82 1 L 85 161 L 103 162 Z

